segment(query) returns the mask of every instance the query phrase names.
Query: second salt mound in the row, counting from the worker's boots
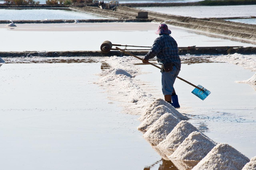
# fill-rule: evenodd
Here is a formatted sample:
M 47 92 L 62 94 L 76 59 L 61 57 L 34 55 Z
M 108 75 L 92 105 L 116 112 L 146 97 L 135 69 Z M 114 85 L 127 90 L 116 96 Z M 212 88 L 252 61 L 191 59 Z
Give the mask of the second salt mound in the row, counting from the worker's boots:
M 147 131 L 163 114 L 170 113 L 170 109 L 164 105 L 159 105 L 141 122 L 137 127 L 140 131 Z M 172 114 L 172 113 L 171 113 Z

